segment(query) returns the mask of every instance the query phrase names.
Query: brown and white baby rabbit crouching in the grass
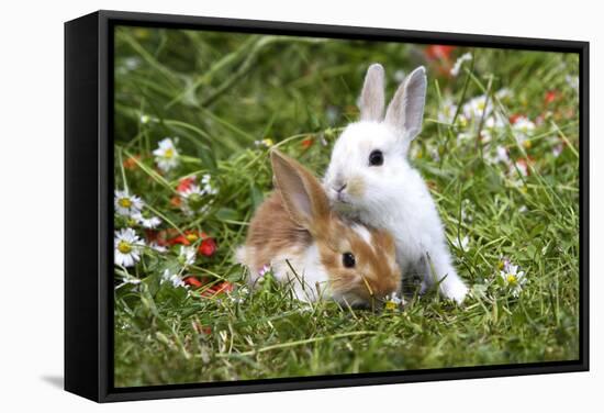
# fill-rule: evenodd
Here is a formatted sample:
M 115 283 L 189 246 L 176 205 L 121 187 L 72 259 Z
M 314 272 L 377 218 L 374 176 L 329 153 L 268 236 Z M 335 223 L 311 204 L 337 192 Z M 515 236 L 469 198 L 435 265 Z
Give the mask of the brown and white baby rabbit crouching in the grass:
M 358 306 L 399 293 L 392 236 L 339 217 L 318 180 L 294 159 L 272 150 L 270 160 L 276 190 L 256 211 L 237 252 L 250 282 L 270 266 L 304 301 L 332 298 Z

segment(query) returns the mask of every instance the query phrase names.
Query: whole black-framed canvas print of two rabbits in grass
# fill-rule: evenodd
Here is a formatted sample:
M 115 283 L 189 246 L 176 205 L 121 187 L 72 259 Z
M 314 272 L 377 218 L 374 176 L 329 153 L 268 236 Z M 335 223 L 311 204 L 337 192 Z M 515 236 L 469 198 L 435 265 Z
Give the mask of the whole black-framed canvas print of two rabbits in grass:
M 65 389 L 589 369 L 589 44 L 65 24 Z

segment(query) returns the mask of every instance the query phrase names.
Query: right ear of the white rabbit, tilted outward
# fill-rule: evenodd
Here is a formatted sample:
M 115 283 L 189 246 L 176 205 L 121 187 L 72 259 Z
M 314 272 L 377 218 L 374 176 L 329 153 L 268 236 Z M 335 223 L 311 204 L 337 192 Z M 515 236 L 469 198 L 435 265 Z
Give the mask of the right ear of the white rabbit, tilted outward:
M 426 69 L 420 66 L 401 83 L 388 105 L 385 123 L 396 127 L 406 141 L 422 131 L 424 103 L 426 102 Z

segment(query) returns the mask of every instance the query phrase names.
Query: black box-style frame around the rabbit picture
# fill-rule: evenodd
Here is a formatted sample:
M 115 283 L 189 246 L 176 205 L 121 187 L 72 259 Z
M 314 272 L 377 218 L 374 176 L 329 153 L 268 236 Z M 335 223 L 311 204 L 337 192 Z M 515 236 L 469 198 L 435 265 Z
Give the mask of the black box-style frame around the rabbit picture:
M 116 24 L 577 53 L 580 57 L 580 357 L 573 361 L 113 387 L 112 102 Z M 589 370 L 589 43 L 97 11 L 65 23 L 65 389 L 97 402 Z

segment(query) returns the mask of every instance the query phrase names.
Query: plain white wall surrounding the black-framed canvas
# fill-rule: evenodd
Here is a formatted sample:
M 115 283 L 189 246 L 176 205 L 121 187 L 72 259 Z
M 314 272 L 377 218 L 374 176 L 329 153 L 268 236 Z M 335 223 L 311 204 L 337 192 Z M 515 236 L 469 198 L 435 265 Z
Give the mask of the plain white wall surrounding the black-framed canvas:
M 272 4 L 275 3 L 275 4 Z M 0 24 L 0 405 L 61 411 L 466 411 L 602 406 L 602 291 L 592 236 L 592 372 L 99 406 L 58 390 L 63 375 L 63 22 L 97 9 L 416 29 L 592 42 L 591 232 L 602 231 L 602 11 L 596 1 L 3 1 Z M 600 183 L 597 183 L 600 182 Z M 600 327 L 600 328 L 597 328 Z M 599 390 L 600 389 L 600 390 Z

